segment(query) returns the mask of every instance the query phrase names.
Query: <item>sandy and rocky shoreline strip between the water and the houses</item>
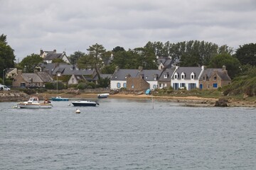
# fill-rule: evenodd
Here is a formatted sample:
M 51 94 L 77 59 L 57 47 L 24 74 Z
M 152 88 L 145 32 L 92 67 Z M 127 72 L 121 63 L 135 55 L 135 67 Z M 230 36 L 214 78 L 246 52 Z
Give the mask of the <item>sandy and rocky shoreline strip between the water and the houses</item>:
M 9 95 L 7 95 L 9 94 Z M 2 102 L 20 102 L 28 100 L 29 96 L 38 96 L 40 100 L 44 100 L 44 98 L 52 98 L 56 94 L 23 94 L 16 92 L 4 92 L 1 93 L 0 97 Z M 22 96 L 22 97 L 21 97 Z M 59 94 L 58 96 L 62 96 L 63 98 L 73 98 L 73 100 L 98 100 L 97 94 Z M 19 98 L 20 97 L 20 98 Z M 27 98 L 27 99 L 25 99 Z M 191 106 L 191 107 L 215 107 L 215 102 L 218 101 L 218 98 L 203 98 L 198 96 L 151 96 L 146 94 L 110 94 L 108 98 L 126 98 L 126 99 L 146 99 L 151 100 L 152 98 L 157 101 L 170 101 L 174 103 L 180 103 L 180 106 Z M 104 99 L 103 99 L 104 100 Z M 248 108 L 256 108 L 256 101 L 246 101 L 245 100 L 236 100 L 235 98 L 228 99 L 228 107 L 248 107 Z

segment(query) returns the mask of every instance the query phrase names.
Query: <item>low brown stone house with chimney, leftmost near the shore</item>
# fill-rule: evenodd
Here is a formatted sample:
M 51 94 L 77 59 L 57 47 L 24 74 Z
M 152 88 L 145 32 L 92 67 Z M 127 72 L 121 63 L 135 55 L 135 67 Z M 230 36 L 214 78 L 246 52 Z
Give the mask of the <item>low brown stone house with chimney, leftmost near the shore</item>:
M 18 70 L 12 86 L 14 87 L 43 87 L 46 83 L 53 81 L 48 72 L 22 73 Z

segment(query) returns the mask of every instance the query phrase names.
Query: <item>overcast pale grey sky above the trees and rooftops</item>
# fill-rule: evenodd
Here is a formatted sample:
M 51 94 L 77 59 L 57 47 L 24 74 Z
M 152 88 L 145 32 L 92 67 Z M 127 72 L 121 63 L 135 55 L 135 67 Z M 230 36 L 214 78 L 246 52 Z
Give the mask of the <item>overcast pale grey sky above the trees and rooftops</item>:
M 200 40 L 237 49 L 256 42 L 255 0 L 0 0 L 0 35 L 16 60 L 40 50 L 106 50 Z

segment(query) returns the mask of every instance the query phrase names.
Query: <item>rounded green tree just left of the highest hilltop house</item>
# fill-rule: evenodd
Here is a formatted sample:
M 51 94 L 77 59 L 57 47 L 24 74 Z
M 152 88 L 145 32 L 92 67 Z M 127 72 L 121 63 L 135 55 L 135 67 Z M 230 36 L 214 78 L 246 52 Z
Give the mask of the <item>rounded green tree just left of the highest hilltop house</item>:
M 43 62 L 43 58 L 40 57 L 40 55 L 33 53 L 23 58 L 19 65 L 24 69 L 25 72 L 33 72 L 41 62 Z

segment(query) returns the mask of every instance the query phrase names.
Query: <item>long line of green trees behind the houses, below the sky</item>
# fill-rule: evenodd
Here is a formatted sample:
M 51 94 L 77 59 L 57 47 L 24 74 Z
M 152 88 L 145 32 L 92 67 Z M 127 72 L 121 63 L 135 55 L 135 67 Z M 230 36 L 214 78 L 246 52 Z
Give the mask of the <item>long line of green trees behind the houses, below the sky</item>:
M 256 43 L 240 45 L 233 50 L 228 45 L 217 45 L 213 42 L 189 40 L 183 42 L 147 42 L 144 47 L 124 50 L 124 47 L 114 47 L 106 50 L 103 45 L 95 44 L 87 48 L 87 52 L 74 52 L 70 56 L 71 64 L 78 64 L 81 69 L 95 68 L 98 77 L 102 74 L 112 74 L 116 67 L 120 69 L 157 69 L 157 57 L 170 57 L 173 62 L 183 67 L 201 67 L 228 69 L 233 79 L 246 70 L 246 66 L 256 66 Z M 0 73 L 11 67 L 33 72 L 36 66 L 43 62 L 38 54 L 27 55 L 15 63 L 14 50 L 8 45 L 6 35 L 0 35 Z M 55 60 L 53 62 L 63 62 Z

